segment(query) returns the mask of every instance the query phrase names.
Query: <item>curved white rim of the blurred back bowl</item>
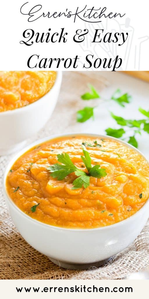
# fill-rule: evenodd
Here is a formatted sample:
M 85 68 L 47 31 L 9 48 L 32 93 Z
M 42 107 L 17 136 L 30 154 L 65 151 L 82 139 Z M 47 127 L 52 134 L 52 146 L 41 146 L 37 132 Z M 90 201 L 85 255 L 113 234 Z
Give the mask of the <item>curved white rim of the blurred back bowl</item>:
M 38 105 L 39 102 L 41 102 L 41 100 L 47 95 L 49 94 L 50 91 L 52 91 L 53 89 L 55 89 L 55 86 L 57 86 L 58 82 L 61 81 L 62 79 L 62 71 L 56 71 L 56 79 L 55 82 L 52 86 L 52 88 L 46 93 L 44 94 L 42 97 L 40 97 L 38 100 L 35 100 L 34 102 L 28 104 L 27 106 L 23 106 L 23 107 L 19 107 L 19 108 L 15 108 L 12 110 L 6 110 L 6 111 L 2 111 L 0 112 L 0 117 L 1 115 L 11 115 L 12 113 L 17 113 L 18 111 L 24 111 L 27 113 L 27 110 L 30 109 L 30 106 L 32 105 Z

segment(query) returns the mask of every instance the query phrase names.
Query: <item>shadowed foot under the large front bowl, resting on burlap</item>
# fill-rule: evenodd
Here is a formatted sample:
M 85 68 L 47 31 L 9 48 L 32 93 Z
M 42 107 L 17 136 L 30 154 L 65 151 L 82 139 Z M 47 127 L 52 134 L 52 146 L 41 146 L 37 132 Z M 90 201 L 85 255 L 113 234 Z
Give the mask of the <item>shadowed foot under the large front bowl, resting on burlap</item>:
M 61 262 L 59 260 L 54 260 L 49 257 L 49 260 L 56 264 L 59 267 L 62 267 L 64 269 L 71 269 L 71 270 L 91 270 L 93 267 L 99 268 L 100 266 L 103 266 L 105 263 L 108 263 L 109 260 L 111 260 L 112 257 L 102 260 L 95 263 L 88 263 L 88 264 L 69 264 L 65 262 Z

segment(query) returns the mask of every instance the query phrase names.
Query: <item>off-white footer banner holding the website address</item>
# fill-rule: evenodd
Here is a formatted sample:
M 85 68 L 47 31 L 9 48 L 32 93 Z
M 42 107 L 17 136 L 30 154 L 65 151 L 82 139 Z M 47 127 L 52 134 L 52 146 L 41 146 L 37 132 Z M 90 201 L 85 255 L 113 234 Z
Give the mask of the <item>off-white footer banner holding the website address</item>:
M 148 298 L 148 280 L 0 280 L 1 298 Z

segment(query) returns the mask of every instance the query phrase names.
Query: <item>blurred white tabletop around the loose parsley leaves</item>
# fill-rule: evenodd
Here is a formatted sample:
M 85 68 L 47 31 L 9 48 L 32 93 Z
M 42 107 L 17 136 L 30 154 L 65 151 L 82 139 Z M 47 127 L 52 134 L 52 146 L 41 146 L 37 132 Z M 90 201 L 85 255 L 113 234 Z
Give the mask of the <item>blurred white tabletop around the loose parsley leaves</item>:
M 98 100 L 99 106 L 94 110 L 95 119 L 88 120 L 80 125 L 81 132 L 94 132 L 105 134 L 105 129 L 108 127 L 119 128 L 116 121 L 111 118 L 109 111 L 112 111 L 115 115 L 122 116 L 126 119 L 143 119 L 146 118 L 142 115 L 138 108 L 141 106 L 145 110 L 149 110 L 149 83 L 136 79 L 134 77 L 128 76 L 122 72 L 109 72 L 101 71 L 101 76 L 107 78 L 109 85 L 105 87 L 100 93 L 100 96 L 109 99 L 111 95 L 120 89 L 122 93 L 129 93 L 132 96 L 131 103 L 125 104 L 125 108 L 119 106 L 115 101 L 111 100 L 108 102 L 103 102 Z M 91 102 L 93 103 L 92 100 Z M 84 106 L 86 106 L 84 101 Z M 87 103 L 91 106 L 90 103 Z M 96 104 L 94 104 L 95 106 Z M 130 129 L 130 136 L 133 135 L 133 131 Z M 122 137 L 123 138 L 123 137 Z M 144 153 L 144 155 L 149 158 L 149 135 L 146 132 L 142 132 L 142 136 L 136 134 L 136 139 L 138 141 L 138 149 Z

